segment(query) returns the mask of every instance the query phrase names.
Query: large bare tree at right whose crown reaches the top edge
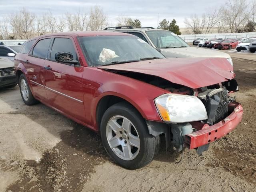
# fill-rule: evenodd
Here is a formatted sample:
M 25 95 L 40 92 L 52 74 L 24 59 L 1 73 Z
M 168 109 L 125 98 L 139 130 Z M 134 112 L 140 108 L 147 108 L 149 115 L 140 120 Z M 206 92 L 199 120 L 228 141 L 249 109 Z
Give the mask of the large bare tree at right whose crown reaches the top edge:
M 240 26 L 244 24 L 244 10 L 247 8 L 244 0 L 228 0 L 220 8 L 220 20 L 224 26 L 228 26 L 231 33 L 238 32 Z

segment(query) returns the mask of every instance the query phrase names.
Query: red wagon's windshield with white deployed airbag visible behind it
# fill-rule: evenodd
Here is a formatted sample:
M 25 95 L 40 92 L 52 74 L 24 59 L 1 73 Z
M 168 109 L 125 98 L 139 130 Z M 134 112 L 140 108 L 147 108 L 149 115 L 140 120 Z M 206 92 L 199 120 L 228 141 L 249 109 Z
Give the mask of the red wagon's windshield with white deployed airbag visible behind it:
M 86 36 L 79 38 L 90 66 L 165 58 L 136 36 Z

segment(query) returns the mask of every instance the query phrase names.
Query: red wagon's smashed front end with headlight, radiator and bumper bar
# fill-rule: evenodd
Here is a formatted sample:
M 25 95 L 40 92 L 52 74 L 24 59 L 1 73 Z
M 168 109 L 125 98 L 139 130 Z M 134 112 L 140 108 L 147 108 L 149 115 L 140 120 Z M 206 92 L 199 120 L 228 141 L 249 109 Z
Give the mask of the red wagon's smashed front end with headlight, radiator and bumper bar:
M 171 142 L 177 152 L 187 147 L 197 149 L 201 155 L 210 142 L 231 132 L 242 120 L 242 106 L 230 96 L 238 91 L 238 86 L 232 79 L 212 86 L 186 88 L 186 92 L 184 89 L 171 88 L 172 93 L 166 94 L 164 100 L 156 98 L 156 107 L 171 130 L 166 143 Z M 177 96 L 183 98 L 179 100 Z

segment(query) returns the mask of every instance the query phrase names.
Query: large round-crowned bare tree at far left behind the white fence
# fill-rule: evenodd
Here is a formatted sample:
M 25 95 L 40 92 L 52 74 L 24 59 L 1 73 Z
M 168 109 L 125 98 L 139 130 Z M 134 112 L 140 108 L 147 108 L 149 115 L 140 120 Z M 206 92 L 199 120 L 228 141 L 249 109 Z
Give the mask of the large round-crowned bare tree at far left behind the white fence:
M 9 23 L 16 37 L 30 39 L 34 32 L 35 14 L 25 8 L 9 16 Z

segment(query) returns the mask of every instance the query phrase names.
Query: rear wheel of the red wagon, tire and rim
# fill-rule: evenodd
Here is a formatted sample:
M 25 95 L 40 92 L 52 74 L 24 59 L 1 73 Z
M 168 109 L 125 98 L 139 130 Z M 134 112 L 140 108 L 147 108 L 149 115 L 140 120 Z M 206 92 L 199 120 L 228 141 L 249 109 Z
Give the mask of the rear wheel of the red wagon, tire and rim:
M 34 98 L 24 74 L 20 75 L 19 87 L 21 98 L 26 105 L 34 105 L 39 103 L 39 101 Z

